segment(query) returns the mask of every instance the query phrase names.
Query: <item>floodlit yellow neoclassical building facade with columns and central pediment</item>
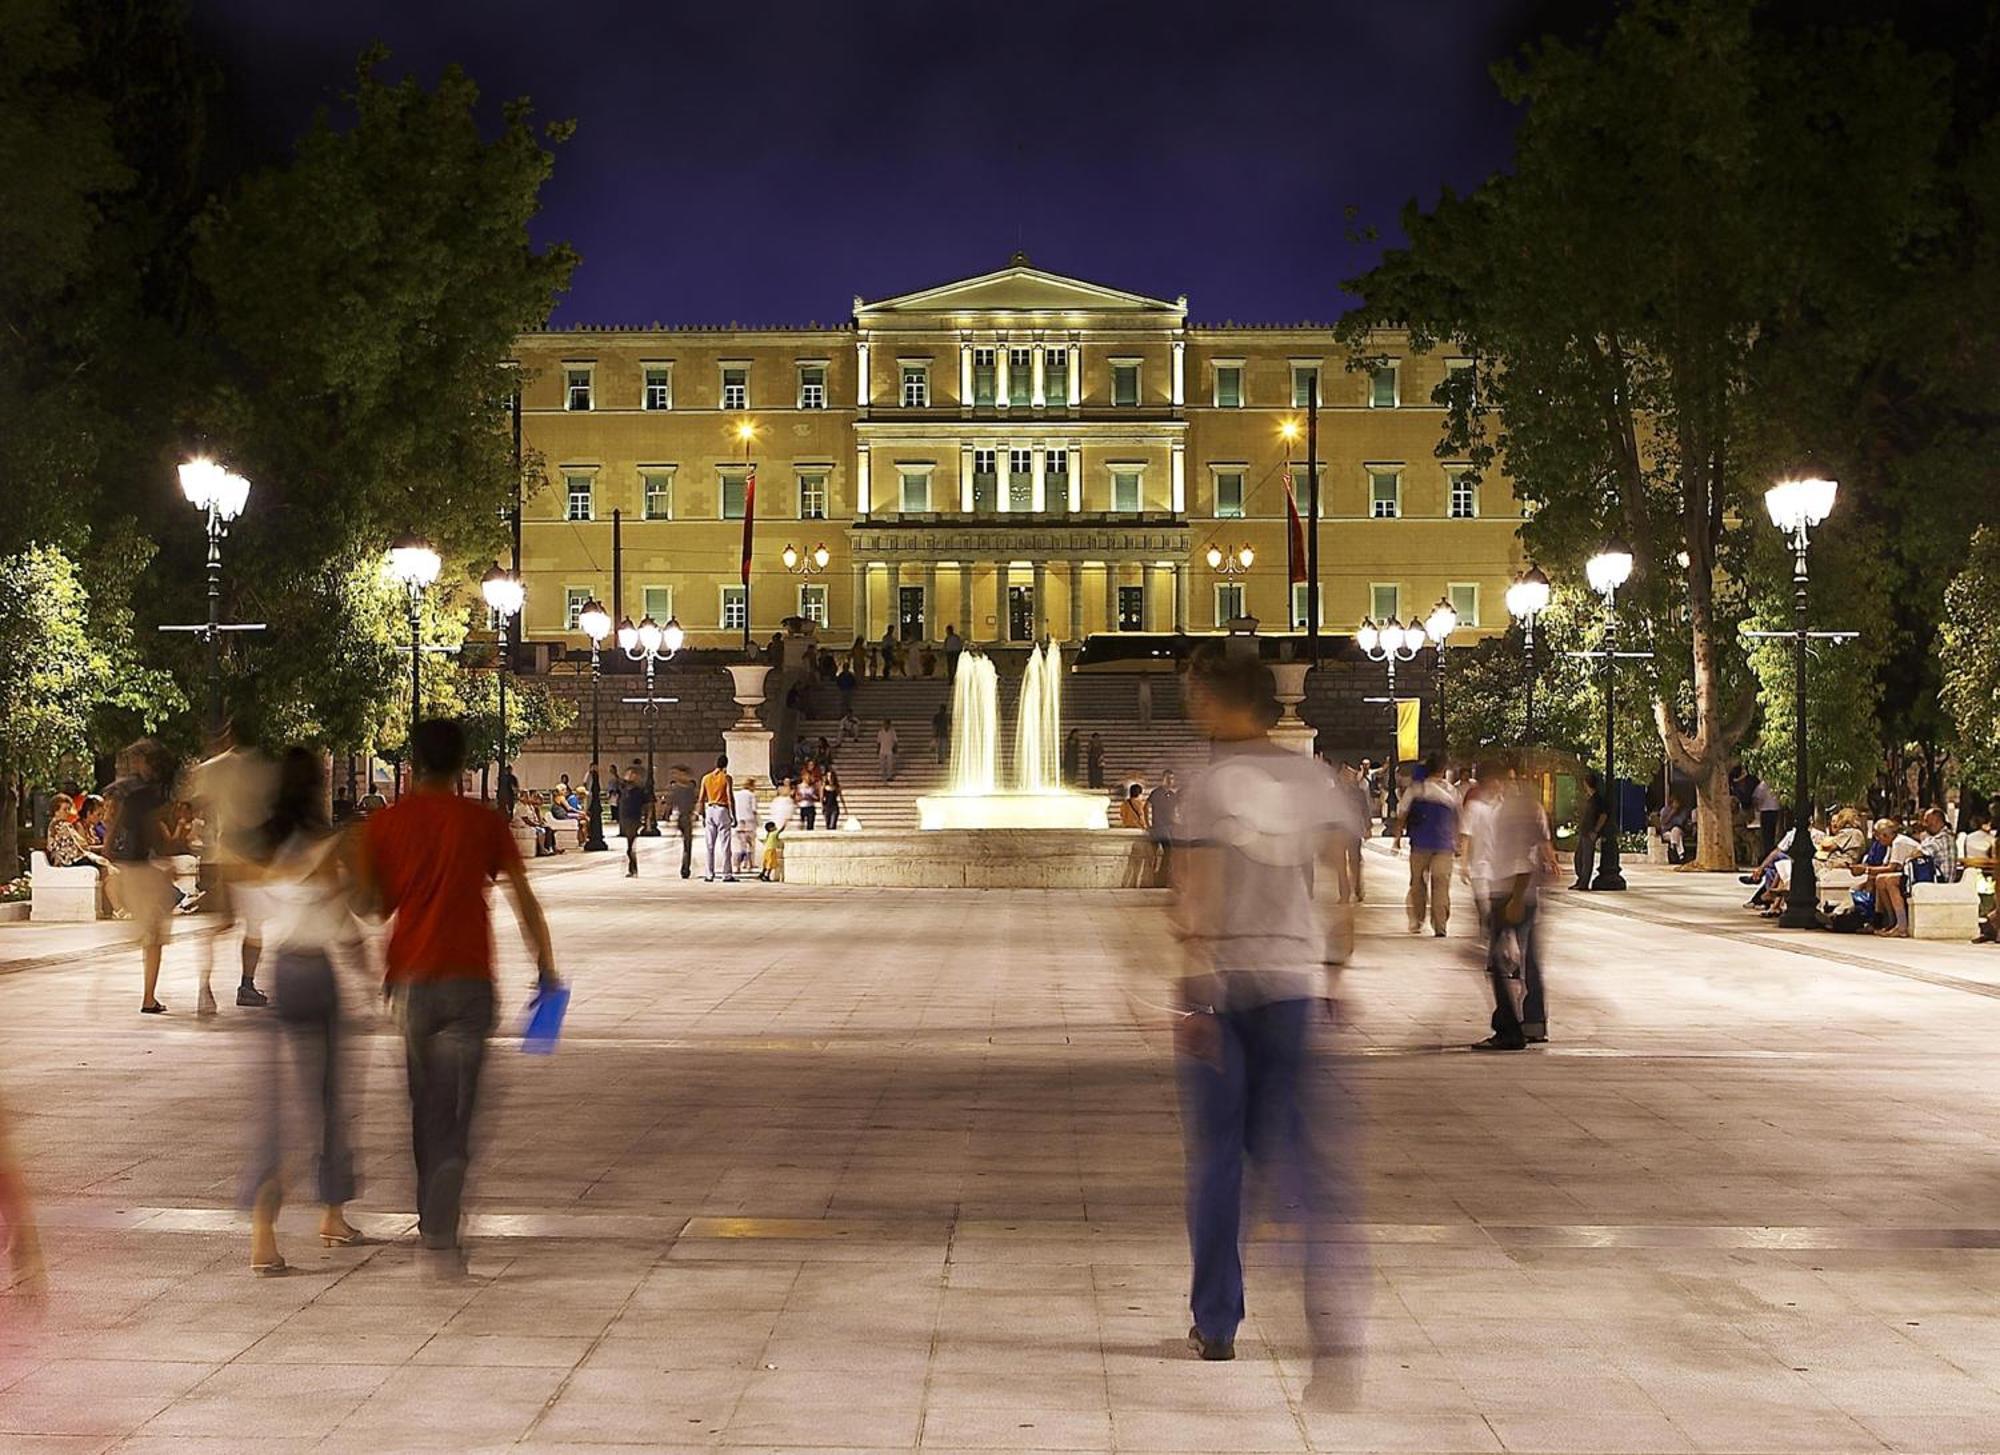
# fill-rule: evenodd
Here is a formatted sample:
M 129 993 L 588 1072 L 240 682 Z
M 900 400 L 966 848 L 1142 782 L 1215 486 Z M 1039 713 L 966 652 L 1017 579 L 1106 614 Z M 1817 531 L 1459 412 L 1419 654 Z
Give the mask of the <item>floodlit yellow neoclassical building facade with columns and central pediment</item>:
M 1504 478 L 1436 454 L 1432 396 L 1460 362 L 1396 332 L 1376 348 L 1388 364 L 1352 372 L 1328 326 L 1190 324 L 1184 298 L 1022 258 L 856 298 L 828 328 L 528 334 L 522 432 L 542 484 L 522 512 L 524 628 L 580 640 L 592 596 L 676 618 L 692 646 L 740 642 L 746 618 L 762 640 L 790 616 L 830 642 L 1302 628 L 1284 478 L 1304 514 L 1316 390 L 1322 630 L 1440 598 L 1468 632 L 1498 630 L 1520 510 Z

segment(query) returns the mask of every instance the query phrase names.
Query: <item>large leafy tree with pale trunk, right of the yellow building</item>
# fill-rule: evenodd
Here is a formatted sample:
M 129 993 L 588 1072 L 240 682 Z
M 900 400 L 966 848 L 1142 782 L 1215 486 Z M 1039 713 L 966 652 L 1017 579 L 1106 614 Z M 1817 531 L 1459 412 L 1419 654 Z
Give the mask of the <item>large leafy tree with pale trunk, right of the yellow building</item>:
M 1474 356 L 1440 390 L 1438 454 L 1512 476 L 1552 576 L 1578 580 L 1612 534 L 1630 546 L 1620 604 L 1660 654 L 1654 724 L 1696 779 L 1704 867 L 1730 863 L 1726 775 L 1756 710 L 1736 522 L 1810 438 L 1800 396 L 1878 356 L 1880 310 L 1940 226 L 1944 66 L 1754 14 L 1638 0 L 1594 42 L 1502 68 L 1514 172 L 1408 208 L 1408 246 L 1350 284 L 1344 324 L 1356 366 L 1378 320 Z

